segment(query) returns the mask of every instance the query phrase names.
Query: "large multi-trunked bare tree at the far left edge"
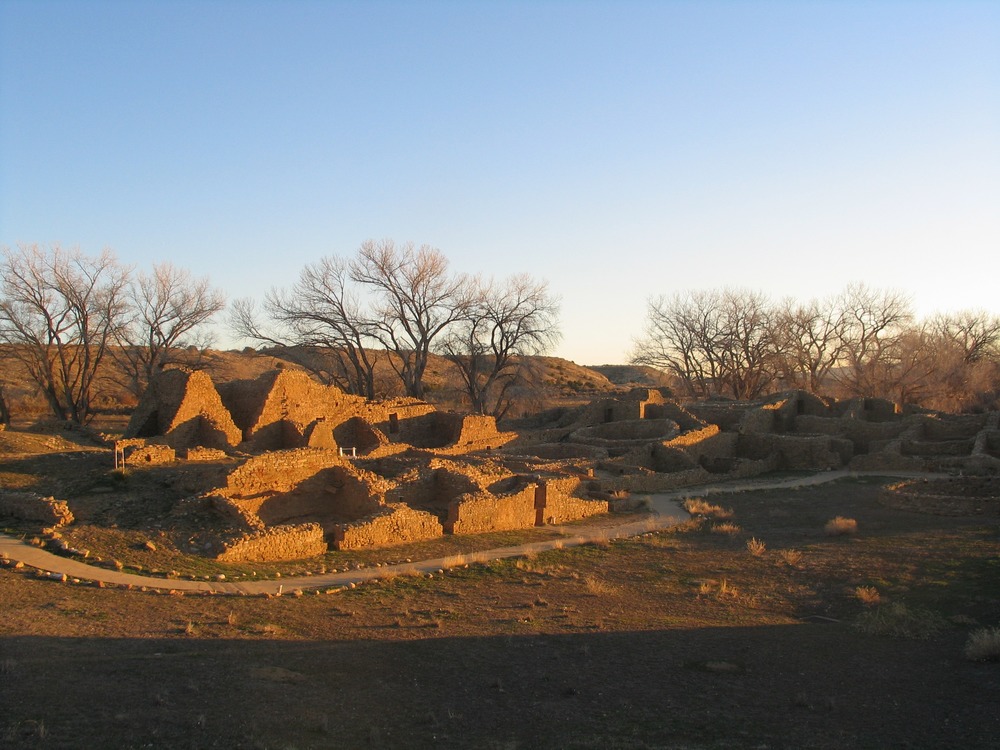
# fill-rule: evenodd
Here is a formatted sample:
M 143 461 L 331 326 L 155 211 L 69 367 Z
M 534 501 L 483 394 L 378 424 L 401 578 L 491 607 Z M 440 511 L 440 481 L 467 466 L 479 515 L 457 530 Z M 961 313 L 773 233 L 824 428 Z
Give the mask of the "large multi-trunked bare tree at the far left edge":
M 98 368 L 125 323 L 129 271 L 105 250 L 3 249 L 0 342 L 38 384 L 52 413 L 93 416 Z

